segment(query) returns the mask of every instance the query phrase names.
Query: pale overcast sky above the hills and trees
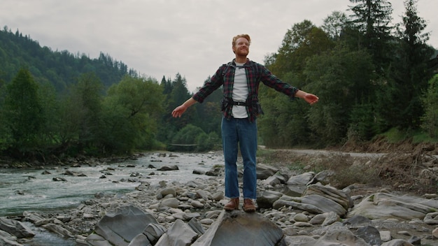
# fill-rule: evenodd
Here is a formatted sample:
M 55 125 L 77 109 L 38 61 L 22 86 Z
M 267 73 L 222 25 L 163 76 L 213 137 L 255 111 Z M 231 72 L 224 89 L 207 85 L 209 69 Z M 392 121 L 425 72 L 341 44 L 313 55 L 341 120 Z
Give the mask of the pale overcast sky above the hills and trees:
M 320 26 L 333 11 L 351 14 L 349 0 L 0 0 L 0 27 L 20 31 L 52 50 L 97 58 L 100 52 L 143 75 L 174 79 L 194 92 L 234 54 L 231 40 L 250 34 L 248 57 L 263 63 L 293 24 Z M 403 0 L 393 4 L 401 22 Z M 419 0 L 428 42 L 438 48 L 437 0 Z

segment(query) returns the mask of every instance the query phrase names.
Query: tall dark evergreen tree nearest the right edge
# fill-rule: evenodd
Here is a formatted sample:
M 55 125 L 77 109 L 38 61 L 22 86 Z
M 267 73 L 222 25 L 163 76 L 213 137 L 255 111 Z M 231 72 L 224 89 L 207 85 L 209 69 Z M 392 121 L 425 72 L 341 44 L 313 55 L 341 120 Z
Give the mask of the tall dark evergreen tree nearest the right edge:
M 397 25 L 397 49 L 393 57 L 388 85 L 383 87 L 381 115 L 390 126 L 401 129 L 418 129 L 424 108 L 421 98 L 428 88 L 432 71 L 428 61 L 434 49 L 426 44 L 429 34 L 424 33 L 426 23 L 418 17 L 415 0 L 404 2 L 406 12 Z M 385 100 L 386 98 L 390 100 Z M 392 112 L 388 112 L 392 111 Z

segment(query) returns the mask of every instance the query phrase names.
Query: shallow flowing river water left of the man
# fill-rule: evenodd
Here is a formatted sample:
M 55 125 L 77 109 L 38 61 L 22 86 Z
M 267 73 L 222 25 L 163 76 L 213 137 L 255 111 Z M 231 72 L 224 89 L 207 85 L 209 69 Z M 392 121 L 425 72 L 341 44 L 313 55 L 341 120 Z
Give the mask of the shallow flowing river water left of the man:
M 146 181 L 150 184 L 157 184 L 162 180 L 184 183 L 195 178 L 210 178 L 206 175 L 195 175 L 193 171 L 205 172 L 217 164 L 223 164 L 222 155 L 217 153 L 173 154 L 176 157 L 170 157 L 169 154 L 160 157 L 157 153 L 148 153 L 136 160 L 75 168 L 0 168 L 0 217 L 22 215 L 24 211 L 53 212 L 76 208 L 98 192 L 116 194 L 132 191 L 140 184 L 140 179 L 147 178 Z M 157 171 L 162 166 L 173 165 L 178 166 L 179 170 Z M 45 171 L 49 173 L 44 174 Z M 76 175 L 65 175 L 66 171 Z M 102 175 L 106 178 L 102 178 Z M 54 181 L 54 178 L 63 178 L 66 181 Z M 37 236 L 29 245 L 74 245 L 72 240 L 58 238 L 51 233 L 39 231 L 38 228 L 33 227 L 32 230 Z

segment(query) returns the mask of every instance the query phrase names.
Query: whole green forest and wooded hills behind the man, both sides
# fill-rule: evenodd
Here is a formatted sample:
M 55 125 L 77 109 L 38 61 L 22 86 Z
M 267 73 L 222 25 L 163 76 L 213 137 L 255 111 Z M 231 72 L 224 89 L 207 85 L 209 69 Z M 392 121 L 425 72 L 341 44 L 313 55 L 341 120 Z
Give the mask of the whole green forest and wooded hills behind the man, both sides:
M 352 15 L 335 11 L 320 27 L 292 24 L 265 57 L 278 78 L 320 101 L 309 106 L 261 85 L 260 145 L 323 148 L 382 136 L 437 142 L 438 52 L 427 44 L 416 0 L 404 1 L 397 24 L 388 1 L 350 2 Z M 221 90 L 171 117 L 190 96 L 179 73 L 159 81 L 107 54 L 53 51 L 18 30 L 0 31 L 2 157 L 220 148 Z

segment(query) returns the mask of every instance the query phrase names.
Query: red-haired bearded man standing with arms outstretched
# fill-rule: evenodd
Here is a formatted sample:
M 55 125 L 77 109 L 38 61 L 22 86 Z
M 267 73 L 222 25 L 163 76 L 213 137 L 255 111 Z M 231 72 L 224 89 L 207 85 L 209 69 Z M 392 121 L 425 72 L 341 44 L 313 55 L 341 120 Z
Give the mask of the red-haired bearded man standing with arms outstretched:
M 172 111 L 173 117 L 181 117 L 193 104 L 202 103 L 209 94 L 223 85 L 222 99 L 222 147 L 225 158 L 225 196 L 230 198 L 225 210 L 239 209 L 239 181 L 237 153 L 240 147 L 243 158 L 243 210 L 255 212 L 257 173 L 257 124 L 256 118 L 262 109 L 258 101 L 260 82 L 290 96 L 299 97 L 313 104 L 318 96 L 303 92 L 276 78 L 267 68 L 247 58 L 250 36 L 241 34 L 232 39 L 232 50 L 236 58 L 223 64 L 192 98 Z

